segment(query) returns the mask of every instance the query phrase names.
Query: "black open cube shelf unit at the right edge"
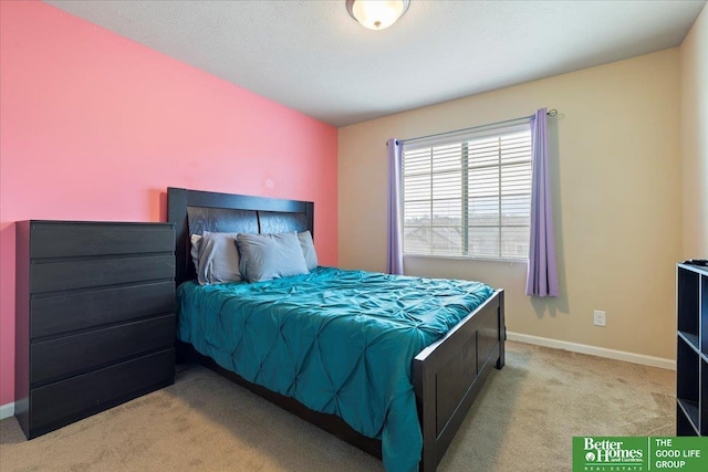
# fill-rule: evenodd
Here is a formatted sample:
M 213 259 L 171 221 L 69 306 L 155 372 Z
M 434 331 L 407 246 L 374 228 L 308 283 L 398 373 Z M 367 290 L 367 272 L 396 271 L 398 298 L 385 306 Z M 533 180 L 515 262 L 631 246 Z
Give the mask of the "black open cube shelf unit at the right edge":
M 708 268 L 676 268 L 676 436 L 708 436 Z

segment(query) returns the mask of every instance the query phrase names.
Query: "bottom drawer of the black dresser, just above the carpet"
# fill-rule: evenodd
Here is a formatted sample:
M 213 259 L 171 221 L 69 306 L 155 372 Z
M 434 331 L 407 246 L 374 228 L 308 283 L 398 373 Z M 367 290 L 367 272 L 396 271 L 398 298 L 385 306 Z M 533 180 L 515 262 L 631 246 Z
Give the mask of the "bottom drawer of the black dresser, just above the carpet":
M 30 428 L 42 430 L 93 415 L 171 384 L 174 377 L 175 349 L 170 348 L 32 389 Z

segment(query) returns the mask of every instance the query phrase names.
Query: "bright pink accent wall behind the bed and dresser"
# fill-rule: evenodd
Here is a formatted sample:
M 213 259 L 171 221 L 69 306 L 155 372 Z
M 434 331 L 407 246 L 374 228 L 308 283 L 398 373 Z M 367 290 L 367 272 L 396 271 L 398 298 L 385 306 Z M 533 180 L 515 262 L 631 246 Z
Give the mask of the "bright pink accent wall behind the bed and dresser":
M 41 2 L 0 1 L 0 406 L 14 221 L 165 221 L 166 188 L 312 200 L 337 262 L 336 128 Z

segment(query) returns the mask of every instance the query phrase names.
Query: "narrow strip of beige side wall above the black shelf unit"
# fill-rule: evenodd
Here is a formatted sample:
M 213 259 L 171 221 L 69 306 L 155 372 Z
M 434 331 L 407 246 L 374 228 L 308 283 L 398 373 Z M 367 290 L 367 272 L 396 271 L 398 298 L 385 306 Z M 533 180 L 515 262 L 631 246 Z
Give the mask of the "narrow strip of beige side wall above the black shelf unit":
M 684 258 L 708 258 L 708 6 L 680 46 Z

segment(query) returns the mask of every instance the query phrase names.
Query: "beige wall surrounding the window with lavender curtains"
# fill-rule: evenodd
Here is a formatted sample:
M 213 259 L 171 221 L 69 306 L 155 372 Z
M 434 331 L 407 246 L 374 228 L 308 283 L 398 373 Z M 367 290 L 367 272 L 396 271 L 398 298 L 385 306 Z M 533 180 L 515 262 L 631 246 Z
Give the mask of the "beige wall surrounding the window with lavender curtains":
M 525 263 L 407 258 L 408 274 L 507 291 L 510 332 L 675 358 L 681 255 L 678 49 L 340 128 L 340 265 L 386 260 L 386 146 L 558 108 L 550 118 L 562 296 L 524 295 Z M 593 310 L 607 326 L 593 326 Z

